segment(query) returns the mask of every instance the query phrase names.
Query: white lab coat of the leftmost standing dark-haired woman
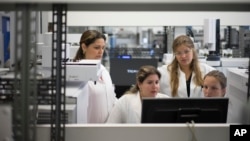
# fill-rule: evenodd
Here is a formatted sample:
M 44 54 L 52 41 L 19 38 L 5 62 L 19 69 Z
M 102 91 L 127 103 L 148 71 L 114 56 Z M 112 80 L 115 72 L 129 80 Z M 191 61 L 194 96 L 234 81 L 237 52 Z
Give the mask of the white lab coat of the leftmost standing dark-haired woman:
M 88 75 L 88 74 L 86 74 Z M 107 69 L 101 65 L 99 70 L 99 80 L 95 82 L 88 81 L 85 85 L 87 89 L 87 94 L 85 93 L 85 98 L 88 101 L 83 106 L 82 109 L 86 110 L 86 116 L 82 116 L 85 119 L 80 121 L 86 121 L 87 123 L 105 123 L 108 115 L 117 100 L 114 91 L 114 85 L 112 84 L 111 77 Z

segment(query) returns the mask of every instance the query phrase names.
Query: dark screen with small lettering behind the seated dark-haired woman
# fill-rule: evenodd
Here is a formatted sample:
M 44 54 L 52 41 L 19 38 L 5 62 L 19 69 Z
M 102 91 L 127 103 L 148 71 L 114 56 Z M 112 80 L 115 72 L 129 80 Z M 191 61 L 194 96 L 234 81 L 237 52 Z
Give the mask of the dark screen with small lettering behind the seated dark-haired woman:
M 131 58 L 110 59 L 110 76 L 117 86 L 131 86 L 135 84 L 135 76 L 143 65 L 152 65 L 157 68 L 158 59 L 155 58 Z

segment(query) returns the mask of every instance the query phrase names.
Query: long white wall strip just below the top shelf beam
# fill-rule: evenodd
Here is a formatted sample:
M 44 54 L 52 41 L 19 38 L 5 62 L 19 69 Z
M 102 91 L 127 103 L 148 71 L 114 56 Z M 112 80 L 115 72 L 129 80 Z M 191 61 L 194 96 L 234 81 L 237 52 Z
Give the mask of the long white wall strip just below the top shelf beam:
M 201 26 L 205 18 L 216 18 L 220 19 L 221 25 L 250 25 L 247 17 L 250 17 L 250 12 L 69 11 L 67 24 L 68 26 Z

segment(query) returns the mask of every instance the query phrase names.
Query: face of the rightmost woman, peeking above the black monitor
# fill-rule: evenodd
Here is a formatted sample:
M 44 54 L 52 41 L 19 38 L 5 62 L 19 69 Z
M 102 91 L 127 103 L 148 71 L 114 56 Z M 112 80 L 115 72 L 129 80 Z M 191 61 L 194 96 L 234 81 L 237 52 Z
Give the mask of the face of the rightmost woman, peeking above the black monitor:
M 222 88 L 220 82 L 213 76 L 207 76 L 203 82 L 205 97 L 224 97 L 226 88 Z

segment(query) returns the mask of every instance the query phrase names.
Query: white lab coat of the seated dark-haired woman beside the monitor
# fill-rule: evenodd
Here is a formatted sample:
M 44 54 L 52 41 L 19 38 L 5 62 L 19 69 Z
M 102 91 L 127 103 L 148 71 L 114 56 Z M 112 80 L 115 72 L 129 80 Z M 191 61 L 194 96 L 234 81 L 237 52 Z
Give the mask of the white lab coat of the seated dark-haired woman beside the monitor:
M 166 98 L 165 94 L 158 93 L 156 98 Z M 107 123 L 141 123 L 142 103 L 139 92 L 125 94 L 115 103 Z

